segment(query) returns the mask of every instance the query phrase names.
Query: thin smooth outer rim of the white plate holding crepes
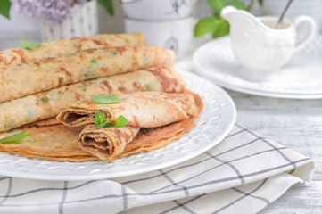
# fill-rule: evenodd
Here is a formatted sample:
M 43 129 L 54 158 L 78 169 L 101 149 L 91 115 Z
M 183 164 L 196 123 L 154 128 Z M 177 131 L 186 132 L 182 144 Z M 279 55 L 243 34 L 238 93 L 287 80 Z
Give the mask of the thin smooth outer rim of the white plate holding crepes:
M 197 78 L 202 78 L 201 76 L 186 71 L 186 70 L 181 70 L 181 69 L 175 69 L 178 70 L 179 73 L 183 76 L 183 78 L 186 78 L 186 76 L 192 76 L 192 77 L 197 77 Z M 227 128 L 225 129 L 225 131 L 223 131 L 221 133 L 220 136 L 216 136 L 215 140 L 212 140 L 213 144 L 209 144 L 208 146 L 203 147 L 202 149 L 198 150 L 198 152 L 196 153 L 190 153 L 189 155 L 185 155 L 184 157 L 178 158 L 176 160 L 172 160 L 172 161 L 167 161 L 166 163 L 162 163 L 162 164 L 157 164 L 157 165 L 153 165 L 153 166 L 147 166 L 144 167 L 143 169 L 136 169 L 135 171 L 130 171 L 129 173 L 125 173 L 124 171 L 120 171 L 120 172 L 114 172 L 111 175 L 106 175 L 106 174 L 93 174 L 93 175 L 76 175 L 76 176 L 62 176 L 62 175 L 45 175 L 44 174 L 32 174 L 32 173 L 24 173 L 24 172 L 11 172 L 8 170 L 3 170 L 0 168 L 0 175 L 2 176 L 9 176 L 9 177 L 18 177 L 18 178 L 27 178 L 27 179 L 33 179 L 33 180 L 50 180 L 50 181 L 84 181 L 84 180 L 99 180 L 99 179 L 109 179 L 109 178 L 117 178 L 117 177 L 128 177 L 128 176 L 134 176 L 134 175 L 138 175 L 138 174 L 142 174 L 142 173 L 146 173 L 146 172 L 151 172 L 154 170 L 158 170 L 158 169 L 163 169 L 163 168 L 167 168 L 173 165 L 176 165 L 178 163 L 184 162 L 184 161 L 188 161 L 193 159 L 194 157 L 202 154 L 203 152 L 206 152 L 208 150 L 210 150 L 213 146 L 219 144 L 229 133 L 230 131 L 234 128 L 235 126 L 235 120 L 236 120 L 236 107 L 235 107 L 235 102 L 233 101 L 233 99 L 231 98 L 230 95 L 227 94 L 227 92 L 221 88 L 220 86 L 217 86 L 216 84 L 214 84 L 213 82 L 211 82 L 208 79 L 202 78 L 204 81 L 209 82 L 212 86 L 214 86 L 222 95 L 224 95 L 227 99 L 227 101 L 229 102 L 229 104 L 231 105 L 231 109 L 232 111 L 229 112 L 231 114 L 231 121 L 229 121 L 229 124 L 227 125 Z M 192 129 L 193 130 L 193 129 Z M 9 155 L 15 155 L 15 154 L 9 154 Z M 135 154 L 138 155 L 138 154 Z M 17 155 L 18 156 L 18 155 Z M 20 158 L 25 158 L 25 157 L 21 157 Z M 28 159 L 28 158 L 25 158 Z M 28 161 L 45 161 L 45 160 L 39 160 L 39 159 L 28 159 Z M 49 162 L 60 162 L 60 161 L 49 161 Z M 64 161 L 63 161 L 64 162 Z M 87 161 L 90 162 L 90 161 Z M 95 162 L 95 161 L 93 161 Z M 70 164 L 72 164 L 73 162 L 69 162 Z M 108 164 L 108 163 L 106 163 Z

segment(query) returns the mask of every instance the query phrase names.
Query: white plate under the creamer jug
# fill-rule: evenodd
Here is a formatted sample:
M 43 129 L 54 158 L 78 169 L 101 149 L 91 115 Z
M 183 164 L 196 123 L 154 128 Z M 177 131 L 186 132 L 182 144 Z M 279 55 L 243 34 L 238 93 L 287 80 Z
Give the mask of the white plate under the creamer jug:
M 315 37 L 281 68 L 277 79 L 252 82 L 242 78 L 229 37 L 211 40 L 194 52 L 194 68 L 219 86 L 250 95 L 290 99 L 322 98 L 322 37 Z

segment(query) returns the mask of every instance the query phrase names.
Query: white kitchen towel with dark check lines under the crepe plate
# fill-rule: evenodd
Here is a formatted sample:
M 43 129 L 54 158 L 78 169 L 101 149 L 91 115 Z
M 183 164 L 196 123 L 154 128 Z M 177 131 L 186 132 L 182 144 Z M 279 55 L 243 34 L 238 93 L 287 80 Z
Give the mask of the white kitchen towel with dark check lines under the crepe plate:
M 0 213 L 256 213 L 314 161 L 239 127 L 208 152 L 150 173 L 92 181 L 0 178 Z

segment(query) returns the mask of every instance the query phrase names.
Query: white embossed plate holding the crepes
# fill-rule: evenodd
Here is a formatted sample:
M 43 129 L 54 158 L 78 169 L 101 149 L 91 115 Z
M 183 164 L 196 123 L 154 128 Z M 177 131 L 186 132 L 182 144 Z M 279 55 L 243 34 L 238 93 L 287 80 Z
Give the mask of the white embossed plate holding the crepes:
M 202 97 L 203 110 L 195 127 L 180 139 L 153 152 L 139 153 L 106 163 L 59 162 L 28 159 L 0 152 L 0 174 L 42 180 L 95 180 L 126 177 L 175 165 L 219 144 L 235 125 L 235 103 L 210 81 L 180 70 L 188 89 Z

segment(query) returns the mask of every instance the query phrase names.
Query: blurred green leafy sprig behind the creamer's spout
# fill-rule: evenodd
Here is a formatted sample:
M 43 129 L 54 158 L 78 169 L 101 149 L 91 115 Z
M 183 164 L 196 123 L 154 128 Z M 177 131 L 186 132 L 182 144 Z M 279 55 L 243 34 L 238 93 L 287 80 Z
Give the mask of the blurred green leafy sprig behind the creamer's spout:
M 194 37 L 212 34 L 213 38 L 223 37 L 229 33 L 229 23 L 220 17 L 220 11 L 227 5 L 235 6 L 237 9 L 251 11 L 254 0 L 246 6 L 241 0 L 207 0 L 211 10 L 214 12 L 212 17 L 204 17 L 194 26 Z M 260 5 L 263 0 L 259 0 Z

